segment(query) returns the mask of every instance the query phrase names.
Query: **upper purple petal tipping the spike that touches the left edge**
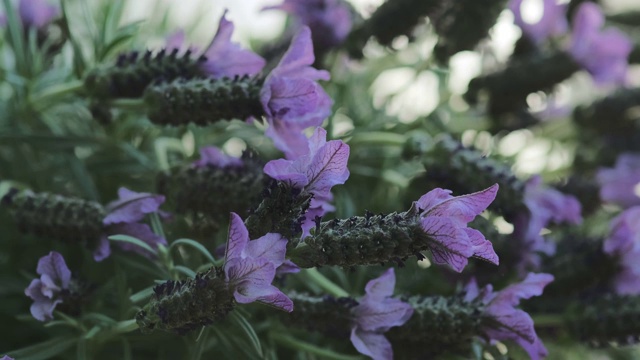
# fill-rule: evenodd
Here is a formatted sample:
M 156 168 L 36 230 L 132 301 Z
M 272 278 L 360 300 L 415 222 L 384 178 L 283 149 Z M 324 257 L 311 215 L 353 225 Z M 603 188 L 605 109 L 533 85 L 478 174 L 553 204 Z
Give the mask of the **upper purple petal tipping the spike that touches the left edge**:
M 164 200 L 162 195 L 137 193 L 121 187 L 118 190 L 118 200 L 112 201 L 106 206 L 109 214 L 102 223 L 110 225 L 140 221 L 146 214 L 158 211 Z

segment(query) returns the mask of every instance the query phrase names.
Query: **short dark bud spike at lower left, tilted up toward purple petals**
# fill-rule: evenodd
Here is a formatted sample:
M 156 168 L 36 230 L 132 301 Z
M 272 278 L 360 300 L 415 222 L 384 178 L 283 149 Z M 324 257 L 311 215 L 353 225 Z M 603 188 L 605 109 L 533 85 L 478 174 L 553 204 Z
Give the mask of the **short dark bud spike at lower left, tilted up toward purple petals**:
M 193 279 L 169 280 L 153 288 L 147 305 L 136 314 L 140 330 L 184 335 L 225 318 L 235 307 L 222 268 L 211 268 Z

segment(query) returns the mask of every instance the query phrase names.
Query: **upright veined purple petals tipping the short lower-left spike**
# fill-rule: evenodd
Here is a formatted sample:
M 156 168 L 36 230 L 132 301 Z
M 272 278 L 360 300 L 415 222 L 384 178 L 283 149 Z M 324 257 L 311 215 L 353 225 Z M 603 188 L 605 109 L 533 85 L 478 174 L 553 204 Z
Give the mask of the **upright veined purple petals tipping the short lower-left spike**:
M 293 311 L 291 299 L 271 285 L 276 269 L 285 262 L 286 246 L 287 239 L 274 233 L 249 241 L 242 219 L 231 213 L 224 272 L 238 303 L 257 301 Z

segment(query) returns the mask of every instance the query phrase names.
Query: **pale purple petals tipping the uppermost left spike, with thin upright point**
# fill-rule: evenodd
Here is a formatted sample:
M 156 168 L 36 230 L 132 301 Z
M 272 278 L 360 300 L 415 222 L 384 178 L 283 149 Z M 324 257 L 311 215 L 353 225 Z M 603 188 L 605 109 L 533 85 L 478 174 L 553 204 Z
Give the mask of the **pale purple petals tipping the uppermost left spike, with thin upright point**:
M 226 12 L 220 18 L 218 32 L 205 51 L 207 61 L 203 69 L 214 77 L 234 77 L 255 75 L 265 65 L 265 60 L 250 50 L 231 42 L 234 25 L 226 19 Z

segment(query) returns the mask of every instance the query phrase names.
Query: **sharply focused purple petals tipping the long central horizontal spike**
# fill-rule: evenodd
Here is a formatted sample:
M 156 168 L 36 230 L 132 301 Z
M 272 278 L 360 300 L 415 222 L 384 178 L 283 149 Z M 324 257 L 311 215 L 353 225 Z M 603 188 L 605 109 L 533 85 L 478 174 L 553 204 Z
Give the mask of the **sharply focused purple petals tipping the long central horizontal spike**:
M 475 256 L 498 264 L 498 255 L 481 232 L 467 227 L 495 199 L 498 184 L 463 196 L 451 196 L 450 190 L 434 189 L 415 203 L 421 210 L 422 229 L 437 246 L 431 246 L 433 260 L 449 264 L 461 272 L 468 258 Z

